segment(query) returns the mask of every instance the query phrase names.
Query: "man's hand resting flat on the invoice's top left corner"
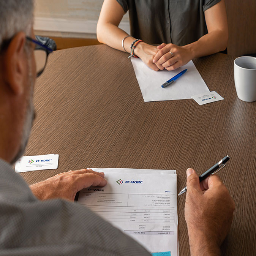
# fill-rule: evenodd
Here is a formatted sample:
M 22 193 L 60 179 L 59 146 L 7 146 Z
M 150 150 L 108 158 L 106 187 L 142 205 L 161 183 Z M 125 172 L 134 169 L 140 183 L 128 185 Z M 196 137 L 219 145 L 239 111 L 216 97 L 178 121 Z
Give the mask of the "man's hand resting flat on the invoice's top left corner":
M 33 194 L 40 200 L 62 198 L 74 201 L 76 193 L 90 186 L 105 186 L 103 172 L 92 169 L 68 171 L 30 186 Z

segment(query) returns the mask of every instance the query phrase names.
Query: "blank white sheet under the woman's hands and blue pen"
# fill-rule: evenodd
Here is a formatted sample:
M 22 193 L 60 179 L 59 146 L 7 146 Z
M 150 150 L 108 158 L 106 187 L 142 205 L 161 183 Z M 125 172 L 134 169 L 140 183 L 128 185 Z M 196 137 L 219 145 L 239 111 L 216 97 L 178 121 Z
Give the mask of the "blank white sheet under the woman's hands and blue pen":
M 135 75 L 145 102 L 191 99 L 192 95 L 209 92 L 209 88 L 192 60 L 174 71 L 154 71 L 139 58 L 131 58 L 131 63 L 133 64 Z M 161 87 L 164 82 L 186 68 L 188 71 L 175 82 L 168 87 Z

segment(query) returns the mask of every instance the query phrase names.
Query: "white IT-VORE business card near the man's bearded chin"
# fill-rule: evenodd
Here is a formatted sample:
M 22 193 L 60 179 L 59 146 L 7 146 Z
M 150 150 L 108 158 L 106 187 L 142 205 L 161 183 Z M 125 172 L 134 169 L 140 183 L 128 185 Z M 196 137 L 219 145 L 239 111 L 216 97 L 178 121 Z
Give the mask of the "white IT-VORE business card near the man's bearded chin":
M 58 168 L 58 155 L 22 156 L 15 164 L 16 172 L 49 170 Z

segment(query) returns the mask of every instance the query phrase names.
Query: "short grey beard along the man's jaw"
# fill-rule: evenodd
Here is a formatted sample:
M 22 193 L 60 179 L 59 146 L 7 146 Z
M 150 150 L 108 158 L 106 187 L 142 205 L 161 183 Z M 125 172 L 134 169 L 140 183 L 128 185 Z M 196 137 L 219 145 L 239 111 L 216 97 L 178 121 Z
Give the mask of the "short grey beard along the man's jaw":
M 27 105 L 27 112 L 25 117 L 25 122 L 23 126 L 22 131 L 22 139 L 21 139 L 21 145 L 19 148 L 19 151 L 17 152 L 14 159 L 11 161 L 11 164 L 14 164 L 19 158 L 24 154 L 25 148 L 28 143 L 28 137 L 33 125 L 33 120 L 35 119 L 35 110 L 33 105 L 33 76 L 32 76 L 32 63 L 28 63 L 29 73 L 28 73 L 28 83 L 30 84 L 30 93 L 29 93 L 29 99 L 28 99 L 28 105 Z

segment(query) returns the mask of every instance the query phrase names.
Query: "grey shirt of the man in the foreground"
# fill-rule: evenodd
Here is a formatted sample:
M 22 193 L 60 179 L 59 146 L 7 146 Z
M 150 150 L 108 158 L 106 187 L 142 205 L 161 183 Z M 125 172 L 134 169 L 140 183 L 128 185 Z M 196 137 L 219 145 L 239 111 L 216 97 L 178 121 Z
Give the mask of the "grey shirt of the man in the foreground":
M 150 255 L 83 205 L 40 201 L 0 159 L 0 255 Z

